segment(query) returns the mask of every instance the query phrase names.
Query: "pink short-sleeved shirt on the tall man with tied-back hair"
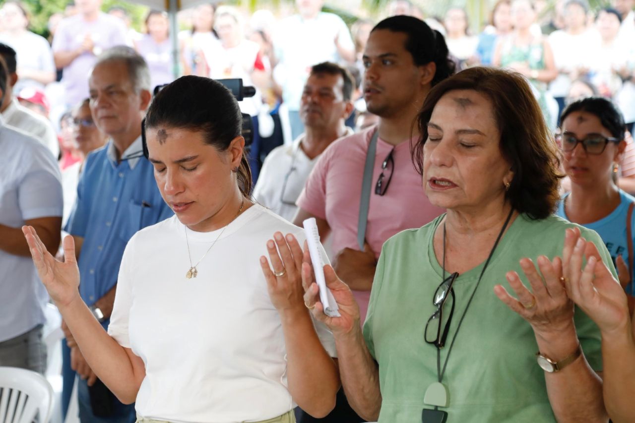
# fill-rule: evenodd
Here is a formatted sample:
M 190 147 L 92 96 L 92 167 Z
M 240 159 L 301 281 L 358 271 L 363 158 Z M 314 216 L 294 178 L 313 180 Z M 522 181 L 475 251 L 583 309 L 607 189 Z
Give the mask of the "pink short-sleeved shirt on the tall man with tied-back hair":
M 320 156 L 298 198 L 300 208 L 328 222 L 333 253 L 346 247 L 359 250 L 359 199 L 366 151 L 375 128 L 373 126 L 333 142 Z M 415 141 L 416 139 L 411 140 Z M 382 172 L 382 163 L 392 148 L 392 144 L 381 138 L 377 140 L 366 226 L 366 241 L 377 257 L 388 238 L 404 229 L 421 227 L 445 211 L 432 206 L 425 196 L 422 177 L 412 163 L 408 142 L 394 147 L 394 170 L 390 185 L 384 196 L 375 194 L 375 184 Z M 363 323 L 370 291 L 353 293 L 358 301 Z

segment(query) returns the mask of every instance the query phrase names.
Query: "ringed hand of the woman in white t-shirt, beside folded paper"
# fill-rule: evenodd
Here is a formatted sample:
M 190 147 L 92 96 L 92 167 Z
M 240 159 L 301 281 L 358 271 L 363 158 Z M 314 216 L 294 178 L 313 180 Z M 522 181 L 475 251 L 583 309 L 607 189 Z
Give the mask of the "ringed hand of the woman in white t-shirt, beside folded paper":
M 306 309 L 301 274 L 303 252 L 298 240 L 292 234 L 285 239 L 281 232 L 276 232 L 274 239 L 267 241 L 267 252 L 271 267 L 264 255 L 260 257 L 260 267 L 274 307 L 279 312 Z

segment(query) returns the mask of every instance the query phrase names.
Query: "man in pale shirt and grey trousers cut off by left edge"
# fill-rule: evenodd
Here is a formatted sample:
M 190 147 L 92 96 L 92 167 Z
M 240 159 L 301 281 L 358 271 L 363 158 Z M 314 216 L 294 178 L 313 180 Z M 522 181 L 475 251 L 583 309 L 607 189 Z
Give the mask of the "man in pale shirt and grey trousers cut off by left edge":
M 0 61 L 1 62 L 1 61 Z M 0 63 L 0 97 L 8 84 Z M 36 228 L 55 253 L 62 225 L 62 184 L 53 156 L 29 135 L 0 116 L 0 366 L 44 373 L 44 311 L 41 285 L 22 225 Z

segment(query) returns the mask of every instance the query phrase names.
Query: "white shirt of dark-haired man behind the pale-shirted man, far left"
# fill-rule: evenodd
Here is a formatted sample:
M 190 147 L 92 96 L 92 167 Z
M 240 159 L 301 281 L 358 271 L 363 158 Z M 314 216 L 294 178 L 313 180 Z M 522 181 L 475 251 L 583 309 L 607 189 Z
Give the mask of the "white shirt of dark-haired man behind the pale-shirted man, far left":
M 53 124 L 44 116 L 36 114 L 18 103 L 13 98 L 9 106 L 2 112 L 4 122 L 14 128 L 25 131 L 49 149 L 55 160 L 60 154 L 60 143 L 55 135 Z

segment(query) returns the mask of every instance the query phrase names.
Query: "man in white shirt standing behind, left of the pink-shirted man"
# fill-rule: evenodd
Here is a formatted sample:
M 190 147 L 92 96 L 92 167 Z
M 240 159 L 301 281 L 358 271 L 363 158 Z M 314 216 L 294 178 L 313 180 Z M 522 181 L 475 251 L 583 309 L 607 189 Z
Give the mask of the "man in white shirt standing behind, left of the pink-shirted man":
M 337 138 L 351 135 L 345 119 L 353 104 L 352 76 L 331 62 L 311 67 L 300 99 L 304 133 L 293 144 L 276 147 L 265 159 L 253 191 L 258 203 L 286 220 L 293 220 L 295 201 L 304 188 L 319 155 Z

